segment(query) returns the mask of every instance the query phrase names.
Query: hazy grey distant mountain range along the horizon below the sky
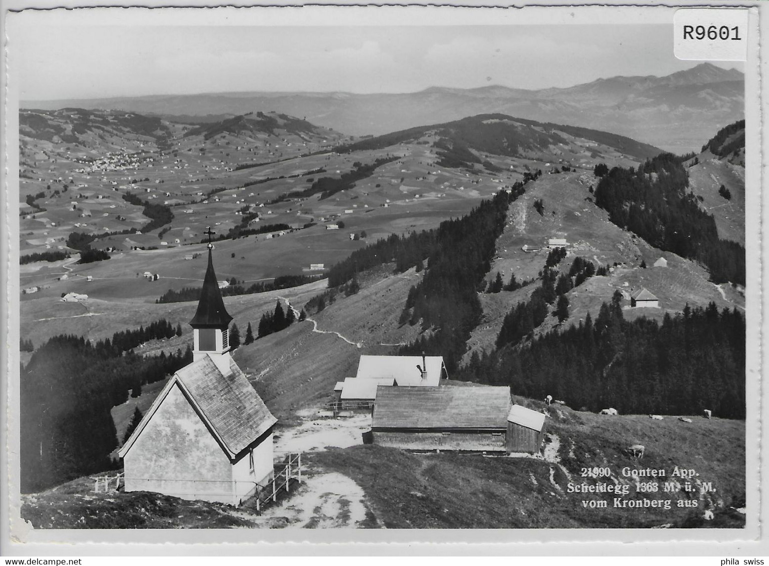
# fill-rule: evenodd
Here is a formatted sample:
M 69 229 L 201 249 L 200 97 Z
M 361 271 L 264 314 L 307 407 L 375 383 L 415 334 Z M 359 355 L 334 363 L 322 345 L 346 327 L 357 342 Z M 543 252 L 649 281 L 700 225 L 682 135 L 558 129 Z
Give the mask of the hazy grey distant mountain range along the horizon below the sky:
M 22 102 L 22 108 L 67 106 L 180 116 L 179 121 L 187 123 L 218 122 L 247 112 L 284 112 L 350 135 L 381 135 L 499 112 L 614 132 L 684 153 L 696 151 L 712 132 L 744 118 L 744 75 L 703 63 L 664 77 L 600 78 L 541 90 L 433 87 L 404 94 L 224 92 Z

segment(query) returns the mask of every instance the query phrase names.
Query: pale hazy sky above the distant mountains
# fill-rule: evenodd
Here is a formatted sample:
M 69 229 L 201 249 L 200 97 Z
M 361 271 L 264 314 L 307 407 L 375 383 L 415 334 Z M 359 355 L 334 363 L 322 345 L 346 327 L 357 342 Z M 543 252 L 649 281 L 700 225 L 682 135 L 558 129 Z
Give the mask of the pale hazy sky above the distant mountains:
M 672 26 L 18 25 L 19 98 L 201 92 L 418 92 L 431 86 L 566 87 L 668 75 Z M 740 64 L 720 64 L 732 68 Z M 742 70 L 742 69 L 741 69 Z

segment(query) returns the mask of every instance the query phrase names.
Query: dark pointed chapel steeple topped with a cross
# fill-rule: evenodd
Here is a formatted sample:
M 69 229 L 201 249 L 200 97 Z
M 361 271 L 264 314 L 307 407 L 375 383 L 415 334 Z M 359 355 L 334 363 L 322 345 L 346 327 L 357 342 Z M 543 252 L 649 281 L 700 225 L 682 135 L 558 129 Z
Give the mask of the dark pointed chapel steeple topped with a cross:
M 211 257 L 211 228 L 208 234 L 208 268 L 205 270 L 203 288 L 198 301 L 198 310 L 190 321 L 194 329 L 195 345 L 192 350 L 193 361 L 209 356 L 223 373 L 228 373 L 230 364 L 230 345 L 228 327 L 232 317 L 225 308 L 221 298 L 219 284 L 214 272 L 214 261 Z

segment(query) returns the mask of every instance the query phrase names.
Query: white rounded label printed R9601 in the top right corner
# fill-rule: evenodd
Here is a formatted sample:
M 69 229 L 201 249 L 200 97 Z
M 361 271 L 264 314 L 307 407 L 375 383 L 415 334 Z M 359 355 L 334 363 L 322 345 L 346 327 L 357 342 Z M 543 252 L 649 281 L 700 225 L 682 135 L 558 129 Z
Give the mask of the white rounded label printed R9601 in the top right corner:
M 681 8 L 673 15 L 673 52 L 686 61 L 745 61 L 747 9 Z

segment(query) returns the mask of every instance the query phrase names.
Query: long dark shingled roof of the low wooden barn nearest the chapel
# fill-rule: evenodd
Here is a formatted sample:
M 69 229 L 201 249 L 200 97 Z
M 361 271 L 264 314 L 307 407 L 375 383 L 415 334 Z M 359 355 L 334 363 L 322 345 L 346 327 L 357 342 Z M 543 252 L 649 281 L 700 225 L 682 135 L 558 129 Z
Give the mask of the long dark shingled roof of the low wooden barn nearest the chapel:
M 371 428 L 507 428 L 507 387 L 380 387 Z

